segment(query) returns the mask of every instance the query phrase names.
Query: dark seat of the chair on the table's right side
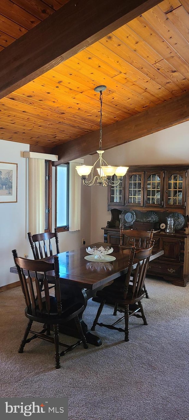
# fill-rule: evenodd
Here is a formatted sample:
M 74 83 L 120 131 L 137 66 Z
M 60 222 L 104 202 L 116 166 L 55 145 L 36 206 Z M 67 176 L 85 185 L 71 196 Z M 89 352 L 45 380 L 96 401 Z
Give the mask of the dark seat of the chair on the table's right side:
M 122 305 L 139 302 L 139 300 L 141 300 L 144 297 L 143 290 L 142 293 L 140 293 L 138 296 L 136 295 L 136 292 L 133 296 L 132 286 L 129 285 L 128 292 L 126 294 L 126 299 L 123 299 L 123 288 L 123 282 L 115 281 L 110 286 L 104 287 L 104 289 L 97 291 L 97 297 L 100 297 L 100 299 L 113 301 Z

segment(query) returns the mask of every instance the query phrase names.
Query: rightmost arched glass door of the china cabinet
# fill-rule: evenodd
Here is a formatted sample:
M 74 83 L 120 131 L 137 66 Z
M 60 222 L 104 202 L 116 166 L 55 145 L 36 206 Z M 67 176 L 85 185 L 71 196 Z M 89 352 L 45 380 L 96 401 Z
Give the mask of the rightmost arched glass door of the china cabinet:
M 185 207 L 186 172 L 166 173 L 165 207 Z

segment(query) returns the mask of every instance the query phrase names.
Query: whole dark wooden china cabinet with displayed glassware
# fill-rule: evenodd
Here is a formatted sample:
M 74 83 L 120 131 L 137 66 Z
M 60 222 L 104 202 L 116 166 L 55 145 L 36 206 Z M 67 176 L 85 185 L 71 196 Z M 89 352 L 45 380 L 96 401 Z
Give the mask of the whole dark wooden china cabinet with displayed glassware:
M 120 220 L 128 229 L 154 228 L 154 247 L 163 249 L 164 254 L 149 264 L 148 274 L 186 286 L 189 281 L 189 165 L 130 167 L 115 191 L 108 187 L 108 210 L 112 217 L 102 228 L 105 242 L 119 244 Z M 166 232 L 170 216 L 176 226 L 174 233 Z

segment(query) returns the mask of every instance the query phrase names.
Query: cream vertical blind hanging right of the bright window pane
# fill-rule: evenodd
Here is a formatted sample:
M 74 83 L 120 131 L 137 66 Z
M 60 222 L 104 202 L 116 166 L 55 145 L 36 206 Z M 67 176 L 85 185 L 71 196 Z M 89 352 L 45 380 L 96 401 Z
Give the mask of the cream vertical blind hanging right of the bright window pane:
M 70 162 L 69 187 L 69 231 L 79 231 L 81 228 L 81 177 L 76 166 L 84 163 L 84 159 Z

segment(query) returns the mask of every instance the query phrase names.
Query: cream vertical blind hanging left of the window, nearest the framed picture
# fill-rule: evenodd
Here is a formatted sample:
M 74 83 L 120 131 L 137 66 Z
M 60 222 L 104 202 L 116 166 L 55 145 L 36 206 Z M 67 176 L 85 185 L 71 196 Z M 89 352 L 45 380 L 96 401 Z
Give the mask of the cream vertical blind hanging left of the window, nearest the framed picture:
M 29 158 L 29 232 L 45 231 L 45 160 Z

